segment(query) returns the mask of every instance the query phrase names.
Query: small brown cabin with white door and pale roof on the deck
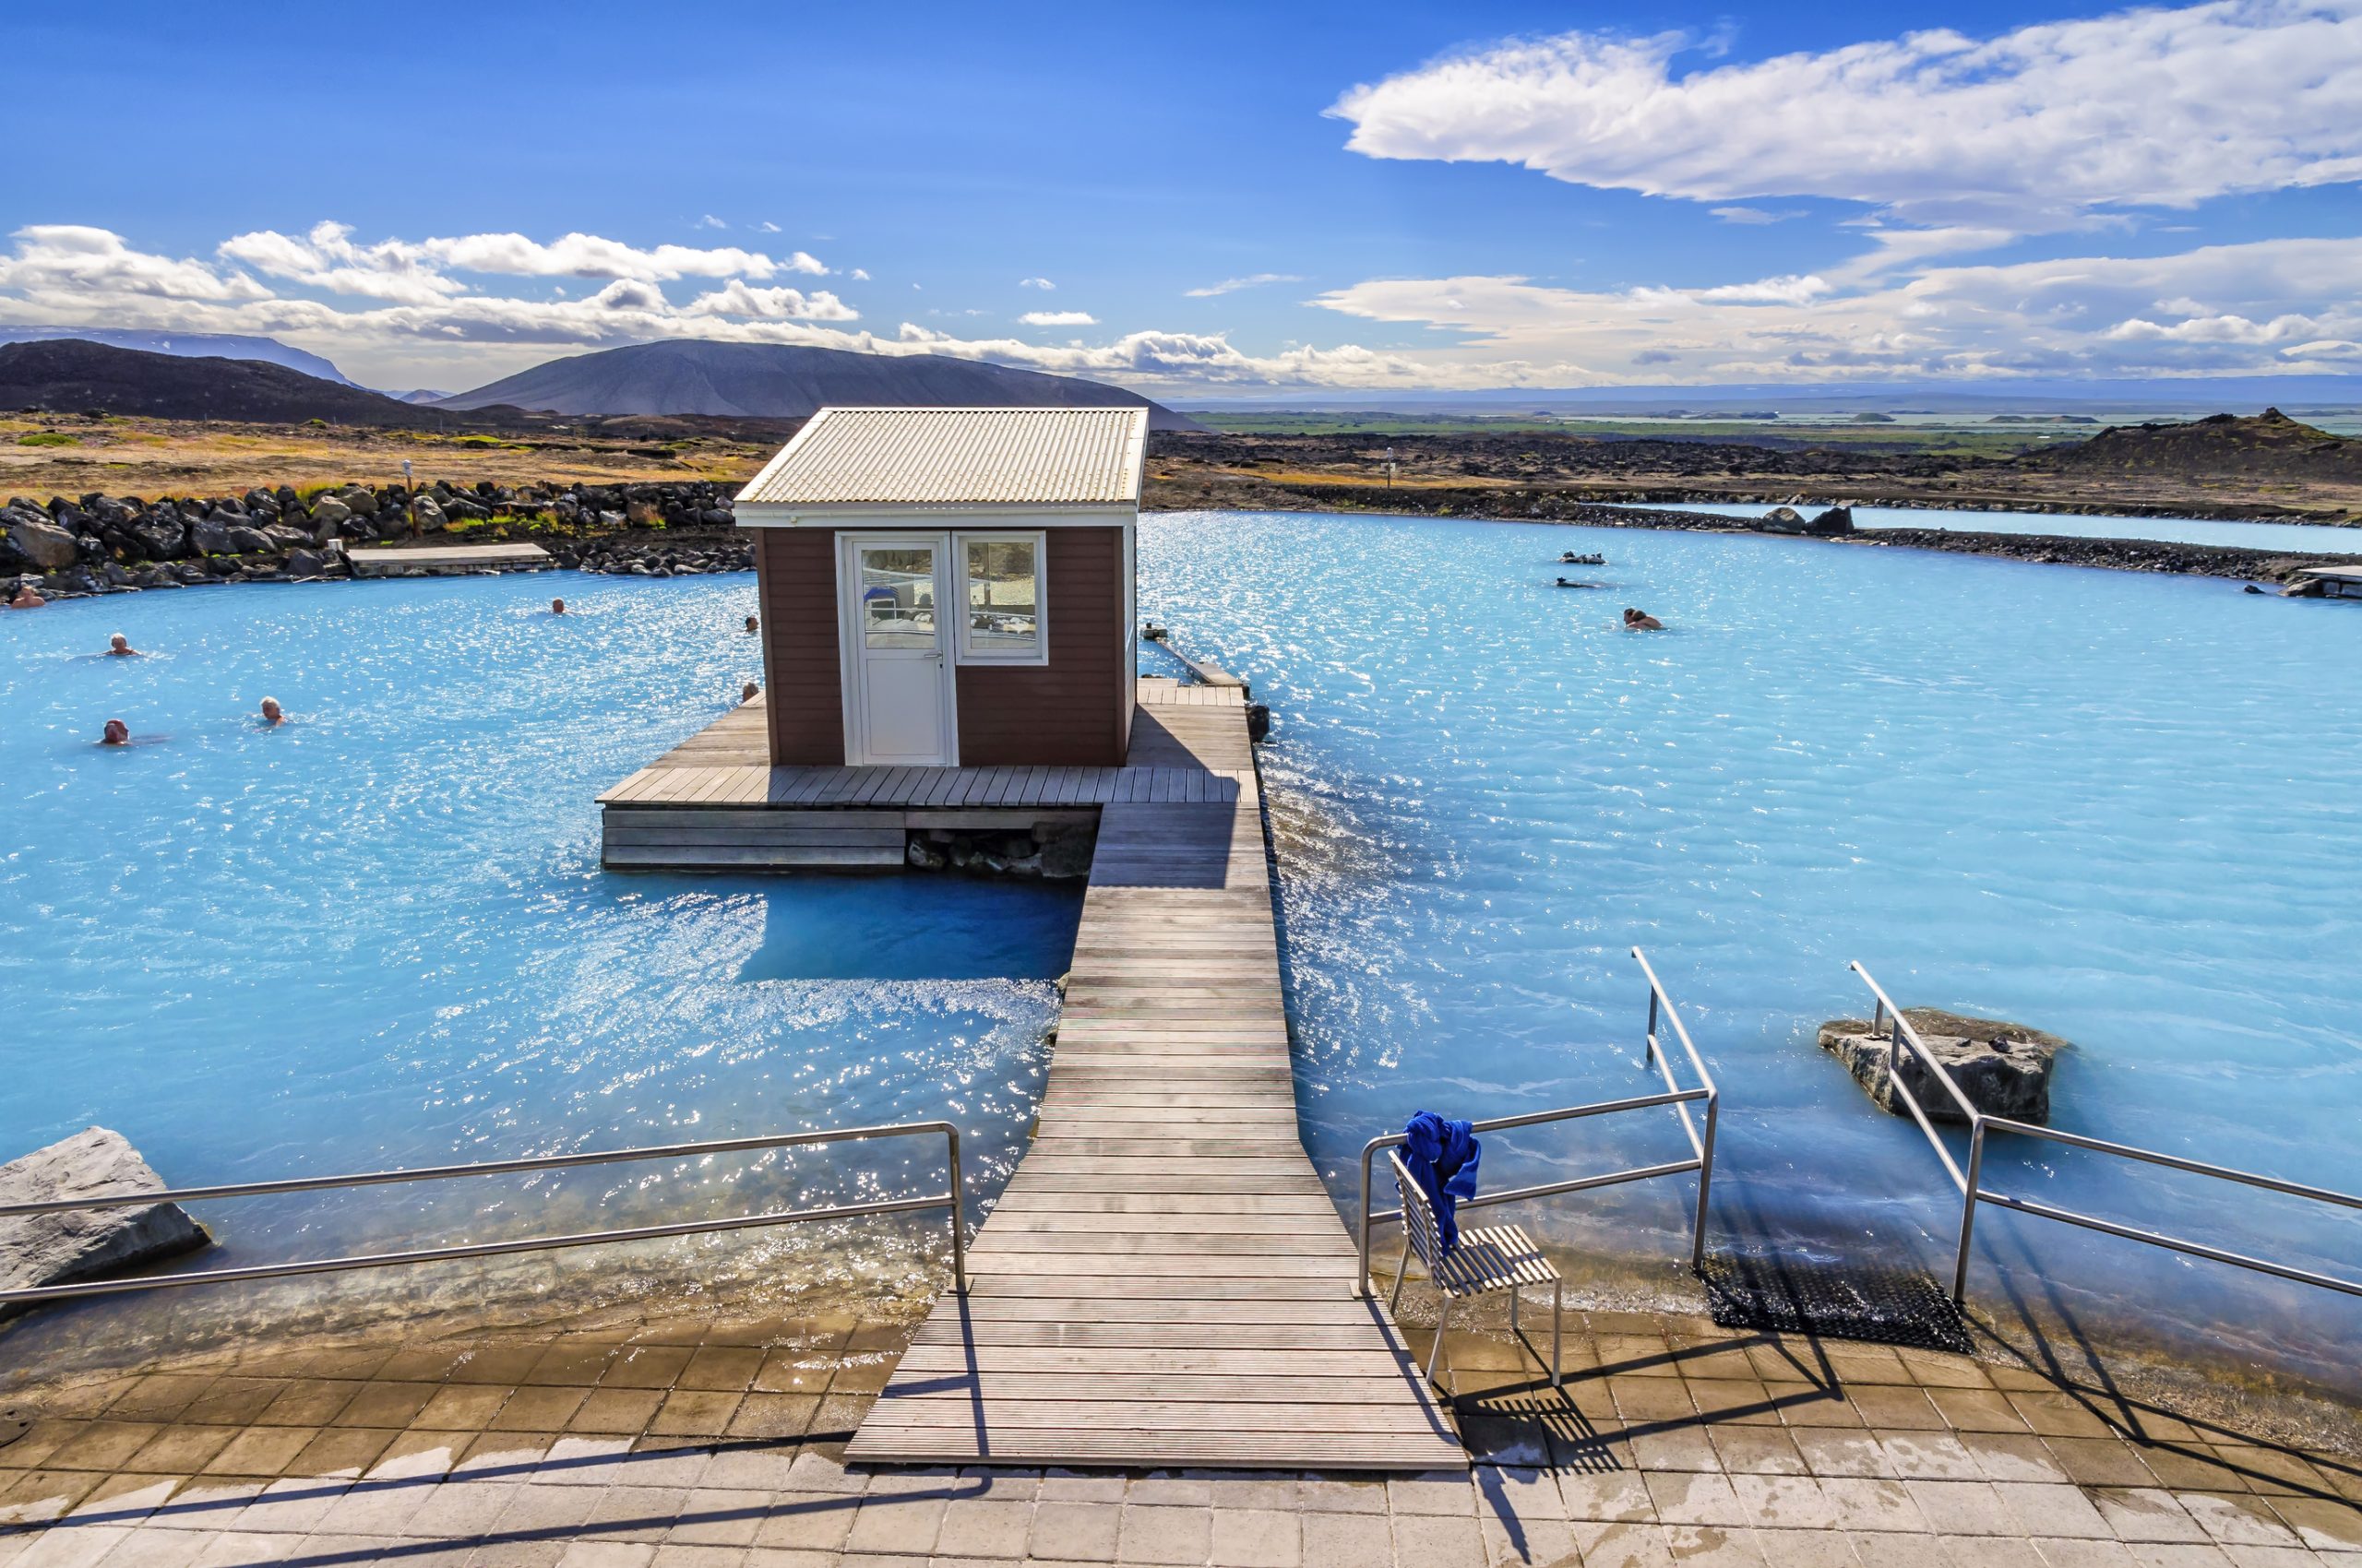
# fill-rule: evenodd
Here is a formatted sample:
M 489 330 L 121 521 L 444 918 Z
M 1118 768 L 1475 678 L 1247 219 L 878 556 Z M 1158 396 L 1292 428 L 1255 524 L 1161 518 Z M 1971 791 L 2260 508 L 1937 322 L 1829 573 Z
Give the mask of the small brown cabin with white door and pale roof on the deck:
M 737 496 L 772 767 L 1120 767 L 1146 409 L 822 409 Z

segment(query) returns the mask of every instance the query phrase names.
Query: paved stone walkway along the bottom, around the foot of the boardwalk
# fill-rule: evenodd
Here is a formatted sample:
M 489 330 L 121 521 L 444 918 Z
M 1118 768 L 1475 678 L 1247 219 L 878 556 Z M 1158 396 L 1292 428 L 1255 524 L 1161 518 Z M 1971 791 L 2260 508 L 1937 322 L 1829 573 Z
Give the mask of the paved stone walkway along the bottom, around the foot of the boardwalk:
M 1474 1478 L 848 1471 L 909 1332 L 850 1313 L 255 1351 L 26 1400 L 0 1563 L 2362 1568 L 2350 1457 L 1960 1355 L 1566 1327 L 1564 1398 L 1453 1334 Z

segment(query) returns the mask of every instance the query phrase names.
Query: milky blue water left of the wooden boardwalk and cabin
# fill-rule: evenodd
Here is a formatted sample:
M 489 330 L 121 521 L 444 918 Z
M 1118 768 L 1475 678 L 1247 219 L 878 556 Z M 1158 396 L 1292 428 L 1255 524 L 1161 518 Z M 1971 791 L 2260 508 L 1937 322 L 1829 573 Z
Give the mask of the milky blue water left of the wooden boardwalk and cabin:
M 194 1185 L 952 1117 L 994 1190 L 1075 893 L 600 871 L 593 796 L 758 675 L 751 609 L 751 576 L 510 576 L 0 612 L 0 1157 L 104 1124 Z M 97 656 L 113 631 L 149 656 Z M 257 727 L 265 694 L 288 725 Z M 106 718 L 139 744 L 94 746 Z M 208 1261 L 276 1261 L 900 1195 L 940 1159 L 201 1219 Z

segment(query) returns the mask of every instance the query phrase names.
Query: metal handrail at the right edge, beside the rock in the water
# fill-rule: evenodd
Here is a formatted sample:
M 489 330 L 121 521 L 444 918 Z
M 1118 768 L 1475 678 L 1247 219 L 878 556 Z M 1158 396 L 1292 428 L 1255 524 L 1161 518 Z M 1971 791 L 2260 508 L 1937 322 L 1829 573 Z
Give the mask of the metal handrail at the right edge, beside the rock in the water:
M 2296 1280 L 2298 1285 L 2317 1285 L 2322 1289 L 2343 1292 L 2348 1296 L 2362 1296 L 2362 1280 L 2341 1280 L 2338 1275 L 2324 1275 L 2324 1273 L 2315 1273 L 2310 1268 L 2294 1268 L 2289 1263 L 2275 1263 L 2270 1259 L 2256 1259 L 2256 1256 L 2249 1256 L 2244 1252 L 2227 1252 L 2223 1247 L 2208 1247 L 2206 1242 L 2192 1242 L 2187 1237 L 2168 1235 L 2164 1230 L 2142 1230 L 2138 1226 L 2121 1226 L 2116 1221 L 2100 1219 L 2097 1214 L 2081 1214 L 2076 1209 L 2060 1209 L 2057 1204 L 2045 1204 L 2045 1202 L 2038 1202 L 2038 1200 L 2031 1200 L 2031 1197 L 2017 1197 L 2012 1193 L 1994 1193 L 1994 1190 L 1989 1190 L 1984 1185 L 1984 1131 L 1986 1129 L 1998 1129 L 1998 1131 L 2005 1131 L 2005 1133 L 2017 1133 L 2022 1138 L 2043 1138 L 2048 1143 L 2064 1143 L 2067 1148 L 2093 1150 L 2093 1152 L 2100 1152 L 2100 1155 L 2116 1155 L 2119 1159 L 2138 1159 L 2142 1164 L 2159 1164 L 2159 1167 L 2166 1167 L 2171 1171 L 2190 1171 L 2192 1176 L 2208 1176 L 2213 1181 L 2232 1181 L 2232 1183 L 2249 1185 L 2249 1188 L 2263 1188 L 2268 1193 L 2284 1193 L 2289 1197 L 2303 1197 L 2308 1202 L 2324 1202 L 2324 1204 L 2336 1204 L 2336 1207 L 2343 1207 L 2343 1209 L 2362 1209 L 2362 1197 L 2355 1197 L 2350 1193 L 2336 1193 L 2331 1188 L 2315 1188 L 2315 1185 L 2308 1185 L 2308 1183 L 2301 1183 L 2301 1181 L 2282 1181 L 2277 1176 L 2260 1176 L 2256 1171 L 2242 1171 L 2242 1169 L 2234 1169 L 2234 1167 L 2227 1167 L 2227 1164 L 2211 1164 L 2206 1159 L 2185 1159 L 2180 1155 L 2164 1155 L 2159 1150 L 2135 1148 L 2131 1143 L 2112 1143 L 2107 1138 L 2090 1138 L 2086 1133 L 2062 1133 L 2062 1131 L 2057 1131 L 2053 1126 L 2034 1126 L 2031 1122 L 2017 1122 L 2017 1119 L 2010 1119 L 2010 1117 L 1986 1115 L 1986 1112 L 1977 1110 L 1968 1100 L 1965 1093 L 1960 1093 L 1960 1086 L 1956 1082 L 1951 1082 L 1951 1074 L 1944 1072 L 1944 1067 L 1934 1060 L 1934 1053 L 1927 1048 L 1927 1041 L 1920 1039 L 1920 1034 L 1911 1025 L 1911 1020 L 1904 1018 L 1904 1013 L 1901 1013 L 1899 1006 L 1894 1006 L 1894 999 L 1887 997 L 1885 989 L 1878 985 L 1878 980 L 1871 978 L 1871 971 L 1861 968 L 1861 963 L 1847 963 L 1847 968 L 1854 971 L 1857 975 L 1861 975 L 1861 982 L 1871 987 L 1871 997 L 1878 999 L 1878 1011 L 1871 1015 L 1871 1034 L 1878 1034 L 1880 1025 L 1887 1027 L 1887 1044 L 1890 1044 L 1887 1082 L 1890 1082 L 1890 1086 L 1894 1089 L 1894 1093 L 1899 1093 L 1904 1098 L 1904 1105 L 1911 1110 L 1911 1117 L 1920 1124 L 1920 1131 L 1927 1133 L 1927 1143 L 1934 1145 L 1934 1152 L 1944 1159 L 1944 1169 L 1951 1174 L 1953 1185 L 1960 1188 L 1960 1244 L 1958 1244 L 1958 1252 L 1953 1254 L 1953 1266 L 1951 1266 L 1951 1304 L 1953 1306 L 1960 1306 L 1965 1301 L 1965 1296 L 1968 1296 L 1968 1252 L 1970 1252 L 1970 1242 L 1975 1240 L 1977 1204 L 1979 1202 L 1994 1204 L 1998 1209 L 2015 1209 L 2017 1214 L 2034 1214 L 2038 1219 L 2053 1219 L 2053 1221 L 2060 1221 L 2064 1226 L 2081 1226 L 2083 1230 L 2100 1230 L 2105 1235 L 2121 1235 L 2121 1237 L 2126 1237 L 2131 1242 L 2147 1242 L 2149 1247 L 2164 1247 L 2168 1252 L 2182 1252 L 2182 1254 L 2190 1254 L 2194 1259 L 2208 1259 L 2213 1263 L 2230 1263 L 2232 1268 L 2246 1268 L 2251 1273 L 2263 1273 L 2263 1275 L 2272 1275 L 2272 1278 L 2279 1278 L 2279 1280 Z M 1965 1174 L 1953 1162 L 1951 1150 L 1944 1148 L 1944 1141 L 1937 1136 L 1934 1126 L 1927 1122 L 1927 1112 L 1920 1110 L 1918 1096 L 1911 1093 L 1911 1086 L 1901 1077 L 1901 1070 L 1899 1070 L 1899 1063 L 1897 1063 L 1894 1053 L 1897 1051 L 1906 1051 L 1906 1048 L 1934 1077 L 1934 1082 L 1944 1084 L 1944 1089 L 1951 1093 L 1953 1103 L 1960 1108 L 1960 1117 L 1968 1122 L 1968 1171 Z

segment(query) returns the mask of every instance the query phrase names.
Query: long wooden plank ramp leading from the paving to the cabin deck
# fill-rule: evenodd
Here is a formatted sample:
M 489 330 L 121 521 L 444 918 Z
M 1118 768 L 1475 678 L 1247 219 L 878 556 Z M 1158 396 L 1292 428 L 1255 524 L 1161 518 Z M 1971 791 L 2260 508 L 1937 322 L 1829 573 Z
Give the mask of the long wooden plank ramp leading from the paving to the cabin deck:
M 1032 1150 L 846 1457 L 1464 1469 L 1297 1138 L 1242 694 L 1141 701 L 1198 796 L 1105 803 Z

